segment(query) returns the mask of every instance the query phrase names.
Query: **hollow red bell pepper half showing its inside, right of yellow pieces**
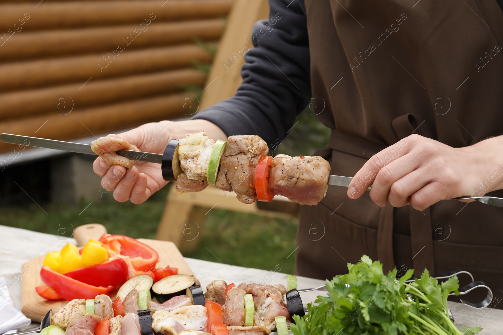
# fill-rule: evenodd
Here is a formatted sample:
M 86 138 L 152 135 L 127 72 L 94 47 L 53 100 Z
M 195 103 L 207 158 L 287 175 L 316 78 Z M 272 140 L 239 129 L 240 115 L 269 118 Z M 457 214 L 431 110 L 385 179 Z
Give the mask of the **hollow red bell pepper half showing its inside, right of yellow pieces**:
M 109 257 L 129 257 L 136 271 L 152 271 L 159 260 L 155 250 L 124 235 L 103 234 L 99 241 L 108 249 Z

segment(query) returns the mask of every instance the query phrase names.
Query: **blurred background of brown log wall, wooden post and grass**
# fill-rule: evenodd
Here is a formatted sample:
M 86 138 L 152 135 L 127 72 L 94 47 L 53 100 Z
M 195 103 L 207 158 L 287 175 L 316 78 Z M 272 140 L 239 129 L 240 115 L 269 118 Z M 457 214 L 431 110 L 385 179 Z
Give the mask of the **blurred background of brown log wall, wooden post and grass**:
M 251 28 L 268 12 L 267 0 L 0 0 L 0 133 L 89 144 L 188 119 L 235 92 Z M 273 154 L 327 143 L 316 108 L 269 144 Z M 171 240 L 187 257 L 293 272 L 298 205 L 244 205 L 211 187 L 179 195 L 171 184 L 140 205 L 119 203 L 93 160 L 0 142 L 0 225 L 71 236 L 100 223 Z

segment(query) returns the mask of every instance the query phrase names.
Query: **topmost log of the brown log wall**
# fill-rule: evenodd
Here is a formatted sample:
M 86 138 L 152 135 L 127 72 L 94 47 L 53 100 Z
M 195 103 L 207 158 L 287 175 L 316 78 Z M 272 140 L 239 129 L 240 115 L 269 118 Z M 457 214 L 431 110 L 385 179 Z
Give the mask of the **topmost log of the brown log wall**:
M 13 28 L 25 13 L 29 19 L 22 29 L 65 27 L 114 27 L 124 23 L 144 22 L 151 13 L 154 22 L 219 18 L 228 14 L 234 0 L 132 0 L 132 1 L 38 1 L 0 5 L 0 29 Z M 27 17 L 28 17 L 27 16 Z

